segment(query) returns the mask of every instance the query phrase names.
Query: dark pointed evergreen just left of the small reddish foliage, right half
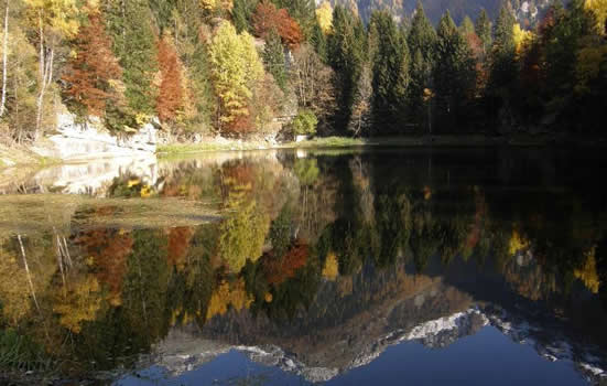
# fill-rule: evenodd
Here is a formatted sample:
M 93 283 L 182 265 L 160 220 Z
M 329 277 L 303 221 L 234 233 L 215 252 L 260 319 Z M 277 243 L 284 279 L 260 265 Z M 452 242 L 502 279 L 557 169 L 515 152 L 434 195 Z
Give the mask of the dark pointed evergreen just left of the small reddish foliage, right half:
M 458 122 L 474 90 L 475 61 L 448 11 L 441 18 L 437 36 L 434 66 L 437 114 L 443 122 Z

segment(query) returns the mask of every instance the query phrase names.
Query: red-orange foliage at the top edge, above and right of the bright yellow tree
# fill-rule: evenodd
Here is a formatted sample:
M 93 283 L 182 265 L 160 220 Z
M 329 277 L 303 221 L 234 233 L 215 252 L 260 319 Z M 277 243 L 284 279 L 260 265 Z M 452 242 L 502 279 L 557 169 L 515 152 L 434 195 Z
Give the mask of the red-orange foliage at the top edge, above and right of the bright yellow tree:
M 277 9 L 273 3 L 262 1 L 257 6 L 252 19 L 254 34 L 259 37 L 265 39 L 270 31 L 275 30 L 282 43 L 292 50 L 303 41 L 300 24 L 289 15 L 284 8 Z

